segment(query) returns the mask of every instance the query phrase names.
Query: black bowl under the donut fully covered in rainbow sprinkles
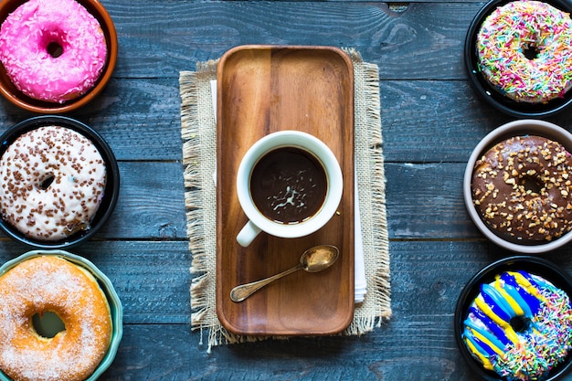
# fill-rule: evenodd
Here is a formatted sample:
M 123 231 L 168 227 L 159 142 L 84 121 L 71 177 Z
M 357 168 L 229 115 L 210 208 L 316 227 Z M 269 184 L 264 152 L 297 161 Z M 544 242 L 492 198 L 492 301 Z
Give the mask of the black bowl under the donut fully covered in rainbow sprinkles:
M 517 102 L 504 96 L 496 90 L 484 77 L 477 65 L 477 35 L 484 19 L 491 15 L 499 6 L 511 3 L 514 0 L 492 0 L 482 7 L 469 26 L 465 38 L 464 58 L 465 68 L 469 82 L 482 99 L 499 111 L 519 118 L 544 118 L 565 110 L 572 103 L 572 90 L 567 91 L 564 98 L 556 98 L 546 103 Z M 564 0 L 545 0 L 544 3 L 552 5 L 561 11 L 572 13 L 572 5 Z

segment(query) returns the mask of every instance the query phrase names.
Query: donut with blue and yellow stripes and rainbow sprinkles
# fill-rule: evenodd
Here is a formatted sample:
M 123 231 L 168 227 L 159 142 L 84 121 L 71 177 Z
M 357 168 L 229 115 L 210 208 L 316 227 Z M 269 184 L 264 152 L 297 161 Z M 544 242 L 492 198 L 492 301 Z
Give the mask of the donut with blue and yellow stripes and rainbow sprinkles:
M 471 355 L 508 381 L 542 380 L 572 348 L 567 293 L 522 270 L 482 284 L 464 326 Z

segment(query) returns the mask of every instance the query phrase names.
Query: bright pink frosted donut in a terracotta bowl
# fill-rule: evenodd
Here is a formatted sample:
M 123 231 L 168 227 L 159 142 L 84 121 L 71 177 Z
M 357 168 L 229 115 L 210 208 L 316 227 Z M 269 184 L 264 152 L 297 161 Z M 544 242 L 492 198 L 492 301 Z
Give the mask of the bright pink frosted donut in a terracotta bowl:
M 0 61 L 16 88 L 64 103 L 100 78 L 107 45 L 101 26 L 75 0 L 29 0 L 0 28 Z

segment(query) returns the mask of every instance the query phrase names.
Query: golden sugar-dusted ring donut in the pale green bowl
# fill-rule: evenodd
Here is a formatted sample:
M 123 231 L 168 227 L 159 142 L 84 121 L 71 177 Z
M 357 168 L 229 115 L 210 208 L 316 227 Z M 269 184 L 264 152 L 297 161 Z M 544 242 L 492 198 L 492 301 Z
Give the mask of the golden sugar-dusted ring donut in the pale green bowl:
M 37 333 L 32 318 L 45 312 L 64 331 Z M 14 381 L 85 380 L 107 353 L 111 327 L 97 280 L 66 259 L 26 259 L 0 277 L 0 369 Z

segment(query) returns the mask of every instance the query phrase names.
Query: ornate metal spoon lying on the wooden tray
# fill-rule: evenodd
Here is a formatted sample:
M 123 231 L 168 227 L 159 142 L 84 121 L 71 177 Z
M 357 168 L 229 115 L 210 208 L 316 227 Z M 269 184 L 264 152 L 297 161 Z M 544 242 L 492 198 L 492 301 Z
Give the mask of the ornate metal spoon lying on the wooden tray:
M 298 265 L 289 270 L 283 271 L 280 274 L 273 275 L 270 278 L 237 286 L 230 291 L 230 299 L 233 302 L 242 302 L 270 282 L 281 279 L 297 270 L 303 269 L 308 272 L 325 270 L 332 266 L 339 256 L 340 250 L 332 245 L 321 245 L 313 247 L 312 249 L 307 249 L 302 254 L 302 257 L 300 257 L 300 263 L 298 263 Z

